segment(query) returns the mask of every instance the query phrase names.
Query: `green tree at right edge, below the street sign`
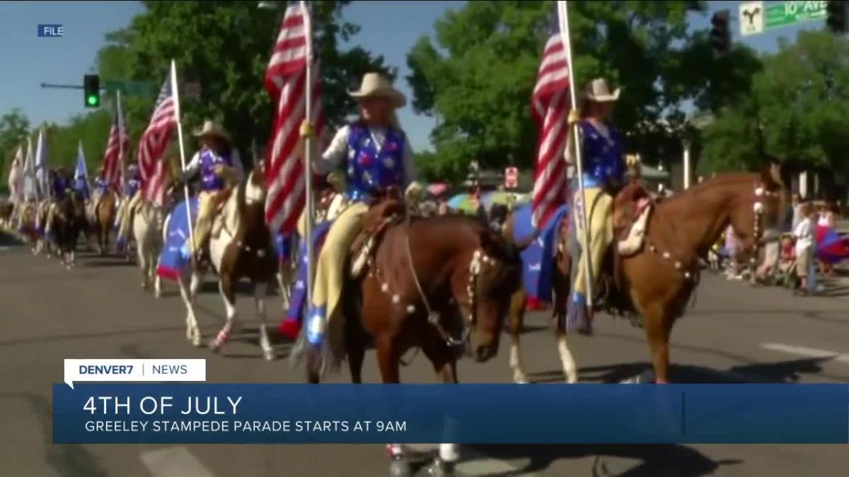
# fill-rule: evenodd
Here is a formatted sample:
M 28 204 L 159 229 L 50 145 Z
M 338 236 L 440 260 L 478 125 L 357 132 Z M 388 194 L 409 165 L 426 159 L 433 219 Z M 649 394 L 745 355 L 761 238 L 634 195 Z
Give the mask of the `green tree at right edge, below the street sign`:
M 795 43 L 781 42 L 762 60 L 745 99 L 706 129 L 706 170 L 759 166 L 765 157 L 792 171 L 845 166 L 849 41 L 800 31 Z

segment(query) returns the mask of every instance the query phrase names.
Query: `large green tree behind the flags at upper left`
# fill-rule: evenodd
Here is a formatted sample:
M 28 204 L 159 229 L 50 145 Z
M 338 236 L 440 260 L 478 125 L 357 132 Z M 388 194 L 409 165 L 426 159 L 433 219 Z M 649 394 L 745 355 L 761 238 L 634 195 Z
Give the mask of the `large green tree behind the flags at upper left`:
M 362 48 L 340 51 L 339 42 L 358 31 L 357 25 L 341 17 L 346 3 L 312 3 L 315 51 L 322 62 L 323 107 L 331 125 L 353 112 L 346 89 L 363 73 L 395 74 L 382 57 Z M 109 44 L 98 53 L 98 70 L 107 79 L 159 83 L 170 59 L 176 59 L 180 81 L 198 81 L 201 87 L 199 100 L 181 98 L 185 132 L 206 118 L 221 121 L 246 153 L 252 138 L 260 143 L 267 140 L 272 125 L 273 108 L 263 85 L 284 4 L 279 2 L 276 11 L 269 11 L 254 2 L 144 2 L 143 14 L 107 36 Z M 127 100 L 133 140 L 147 125 L 153 100 Z M 191 147 L 188 143 L 187 148 Z

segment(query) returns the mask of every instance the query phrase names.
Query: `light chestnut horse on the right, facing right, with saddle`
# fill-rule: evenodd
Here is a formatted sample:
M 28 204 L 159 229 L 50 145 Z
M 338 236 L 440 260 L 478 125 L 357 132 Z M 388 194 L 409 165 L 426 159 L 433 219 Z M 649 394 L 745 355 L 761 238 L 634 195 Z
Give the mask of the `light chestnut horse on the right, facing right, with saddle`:
M 700 258 L 728 224 L 751 256 L 761 245 L 763 234 L 780 223 L 786 197 L 776 169 L 756 173 L 729 173 L 702 182 L 683 194 L 663 199 L 645 210 L 649 193 L 633 183 L 617 194 L 613 222 L 621 245 L 633 234 L 632 226 L 642 213 L 648 222 L 642 243 L 636 250 L 615 259 L 614 282 L 609 300 L 616 311 L 636 313 L 643 318 L 656 383 L 668 382 L 669 337 L 672 325 L 681 317 L 698 284 Z M 568 221 L 565 221 L 568 222 Z M 633 237 L 632 237 L 633 238 Z M 571 273 L 568 231 L 560 233 L 555 267 L 554 322 L 558 350 L 568 382 L 576 381 L 576 368 L 566 343 L 562 310 L 570 294 Z M 612 255 L 612 254 L 611 254 Z M 741 255 L 745 256 L 745 255 Z M 618 270 L 618 272 L 616 272 Z M 524 315 L 523 292 L 514 295 L 510 311 L 513 334 L 510 364 L 514 380 L 526 381 L 521 368 L 518 334 Z M 624 300 L 623 300 L 624 299 Z

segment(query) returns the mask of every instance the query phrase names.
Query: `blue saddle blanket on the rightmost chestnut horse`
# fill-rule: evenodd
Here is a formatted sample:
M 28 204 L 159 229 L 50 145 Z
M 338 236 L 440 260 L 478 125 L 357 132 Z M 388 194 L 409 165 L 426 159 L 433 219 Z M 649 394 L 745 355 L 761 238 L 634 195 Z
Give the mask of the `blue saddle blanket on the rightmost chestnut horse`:
M 531 205 L 515 209 L 514 240 L 521 242 L 537 231 L 531 221 Z M 560 205 L 532 244 L 521 252 L 522 286 L 531 300 L 551 302 L 554 278 L 554 247 L 560 225 L 569 213 L 569 205 Z

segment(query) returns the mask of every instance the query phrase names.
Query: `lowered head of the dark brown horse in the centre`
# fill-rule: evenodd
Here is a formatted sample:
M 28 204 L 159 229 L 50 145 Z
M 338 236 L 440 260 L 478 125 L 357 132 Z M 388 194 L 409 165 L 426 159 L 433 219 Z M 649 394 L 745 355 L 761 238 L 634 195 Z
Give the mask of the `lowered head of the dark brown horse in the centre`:
M 480 248 L 469 263 L 469 290 L 474 309 L 469 346 L 475 360 L 484 362 L 498 353 L 498 341 L 514 290 L 521 281 L 518 250 L 490 229 L 480 233 Z

